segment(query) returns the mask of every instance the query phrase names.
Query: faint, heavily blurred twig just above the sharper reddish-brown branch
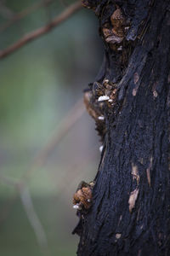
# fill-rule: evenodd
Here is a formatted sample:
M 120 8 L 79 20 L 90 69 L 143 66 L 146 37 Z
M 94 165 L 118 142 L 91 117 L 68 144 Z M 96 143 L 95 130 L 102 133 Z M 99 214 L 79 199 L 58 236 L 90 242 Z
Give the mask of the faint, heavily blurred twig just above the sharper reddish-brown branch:
M 8 26 L 13 25 L 16 21 L 23 19 L 27 15 L 30 15 L 31 13 L 33 13 L 37 9 L 40 9 L 42 6 L 44 6 L 46 4 L 50 4 L 52 2 L 54 2 L 54 0 L 43 0 L 42 2 L 34 3 L 31 6 L 29 6 L 28 8 L 23 9 L 20 13 L 11 16 L 10 20 L 3 23 L 3 25 L 0 26 L 0 32 L 3 32 L 5 29 L 8 28 Z M 0 5 L 0 8 L 1 8 L 1 5 Z

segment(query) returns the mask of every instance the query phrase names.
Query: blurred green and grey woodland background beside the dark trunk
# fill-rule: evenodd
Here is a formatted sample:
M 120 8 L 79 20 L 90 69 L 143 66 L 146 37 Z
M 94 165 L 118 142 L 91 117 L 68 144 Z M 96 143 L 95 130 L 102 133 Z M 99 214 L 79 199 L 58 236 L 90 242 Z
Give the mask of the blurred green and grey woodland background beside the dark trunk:
M 41 1 L 0 1 L 0 50 L 74 3 Z M 80 9 L 0 60 L 2 256 L 76 255 L 72 195 L 82 180 L 94 179 L 100 146 L 82 90 L 102 55 L 97 19 Z

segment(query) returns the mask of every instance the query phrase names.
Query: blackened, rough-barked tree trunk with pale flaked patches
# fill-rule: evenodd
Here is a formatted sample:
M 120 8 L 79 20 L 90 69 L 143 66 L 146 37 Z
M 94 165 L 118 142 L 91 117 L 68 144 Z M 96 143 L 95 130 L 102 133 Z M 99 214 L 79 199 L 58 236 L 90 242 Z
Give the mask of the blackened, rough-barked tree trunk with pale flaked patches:
M 170 255 L 170 1 L 83 5 L 105 46 L 85 92 L 104 148 L 92 206 L 78 210 L 77 254 Z

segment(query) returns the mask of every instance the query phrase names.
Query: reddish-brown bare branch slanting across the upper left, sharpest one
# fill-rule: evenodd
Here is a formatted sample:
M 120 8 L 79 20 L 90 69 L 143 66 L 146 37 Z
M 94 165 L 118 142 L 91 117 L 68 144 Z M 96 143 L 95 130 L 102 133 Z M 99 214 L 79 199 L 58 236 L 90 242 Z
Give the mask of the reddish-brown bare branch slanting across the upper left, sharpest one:
M 27 33 L 23 38 L 20 38 L 16 43 L 10 45 L 8 48 L 0 51 L 0 59 L 12 54 L 15 50 L 20 49 L 20 47 L 28 44 L 32 40 L 39 38 L 40 36 L 50 32 L 55 26 L 58 26 L 61 22 L 68 19 L 73 15 L 78 9 L 82 8 L 82 3 L 80 1 L 71 4 L 67 9 L 65 9 L 60 15 L 54 18 L 48 25 L 42 26 L 37 30 Z

